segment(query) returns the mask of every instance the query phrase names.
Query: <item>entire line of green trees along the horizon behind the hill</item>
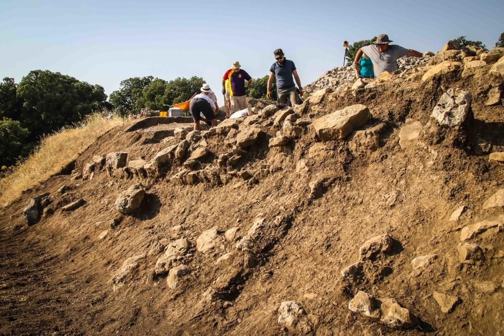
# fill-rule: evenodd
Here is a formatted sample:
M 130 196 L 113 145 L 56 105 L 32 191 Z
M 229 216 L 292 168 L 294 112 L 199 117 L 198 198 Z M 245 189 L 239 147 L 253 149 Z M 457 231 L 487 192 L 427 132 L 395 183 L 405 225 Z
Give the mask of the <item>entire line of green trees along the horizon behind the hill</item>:
M 349 46 L 348 63 L 351 64 L 357 50 L 373 37 Z M 456 39 L 461 46 L 476 45 L 483 49 L 481 41 Z M 504 33 L 495 43 L 504 47 Z M 169 105 L 188 100 L 206 83 L 203 78 L 178 77 L 166 81 L 153 76 L 132 77 L 121 81 L 119 90 L 107 95 L 102 86 L 79 81 L 74 77 L 47 70 L 34 70 L 19 83 L 6 77 L 0 82 L 0 174 L 20 159 L 28 156 L 41 137 L 60 130 L 64 126 L 83 120 L 96 111 L 115 111 L 121 116 L 139 113 L 144 107 L 166 110 Z M 266 98 L 268 76 L 253 80 L 247 95 Z M 219 88 L 213 88 L 216 93 Z M 276 83 L 272 88 L 276 97 Z

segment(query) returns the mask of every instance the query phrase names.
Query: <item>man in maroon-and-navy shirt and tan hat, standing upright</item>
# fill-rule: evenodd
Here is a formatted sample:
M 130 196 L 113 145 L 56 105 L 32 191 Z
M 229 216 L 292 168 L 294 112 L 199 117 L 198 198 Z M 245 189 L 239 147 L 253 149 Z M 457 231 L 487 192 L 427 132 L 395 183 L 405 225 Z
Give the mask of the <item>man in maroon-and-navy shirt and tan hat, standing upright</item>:
M 231 96 L 231 112 L 247 108 L 245 81 L 248 82 L 247 89 L 250 89 L 252 78 L 246 71 L 241 70 L 240 62 L 235 60 L 231 64 L 231 69 L 226 71 L 222 77 L 222 90 L 226 92 L 226 80 L 229 80 L 229 95 Z

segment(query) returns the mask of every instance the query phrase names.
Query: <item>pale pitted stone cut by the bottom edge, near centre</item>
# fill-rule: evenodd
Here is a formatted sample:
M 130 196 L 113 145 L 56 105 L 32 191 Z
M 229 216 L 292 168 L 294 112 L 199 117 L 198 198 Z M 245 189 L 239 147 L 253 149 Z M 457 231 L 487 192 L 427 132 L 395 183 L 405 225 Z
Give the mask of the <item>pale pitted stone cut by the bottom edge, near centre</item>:
M 308 334 L 313 330 L 313 325 L 308 314 L 296 301 L 284 301 L 278 308 L 278 324 L 294 333 Z

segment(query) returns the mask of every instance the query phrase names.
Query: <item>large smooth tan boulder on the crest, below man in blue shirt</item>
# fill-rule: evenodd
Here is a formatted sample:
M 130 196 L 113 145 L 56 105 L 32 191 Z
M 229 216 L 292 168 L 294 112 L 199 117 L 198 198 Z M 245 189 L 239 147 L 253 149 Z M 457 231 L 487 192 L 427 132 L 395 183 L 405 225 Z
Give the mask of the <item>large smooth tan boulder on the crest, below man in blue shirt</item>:
M 371 114 L 365 105 L 356 104 L 324 115 L 313 121 L 311 126 L 322 141 L 345 139 L 350 133 L 364 125 Z

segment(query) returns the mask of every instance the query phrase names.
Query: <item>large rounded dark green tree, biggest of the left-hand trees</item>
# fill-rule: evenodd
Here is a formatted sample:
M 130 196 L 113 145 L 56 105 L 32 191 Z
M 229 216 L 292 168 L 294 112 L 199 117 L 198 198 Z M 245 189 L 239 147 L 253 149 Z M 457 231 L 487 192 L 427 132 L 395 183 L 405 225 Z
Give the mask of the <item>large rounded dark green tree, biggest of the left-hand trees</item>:
M 82 120 L 100 110 L 107 99 L 99 85 L 47 70 L 34 70 L 23 77 L 17 97 L 22 101 L 19 121 L 30 131 L 31 140 Z

